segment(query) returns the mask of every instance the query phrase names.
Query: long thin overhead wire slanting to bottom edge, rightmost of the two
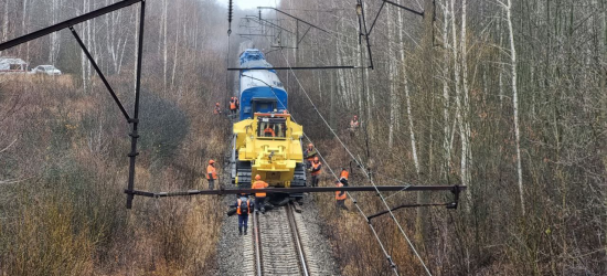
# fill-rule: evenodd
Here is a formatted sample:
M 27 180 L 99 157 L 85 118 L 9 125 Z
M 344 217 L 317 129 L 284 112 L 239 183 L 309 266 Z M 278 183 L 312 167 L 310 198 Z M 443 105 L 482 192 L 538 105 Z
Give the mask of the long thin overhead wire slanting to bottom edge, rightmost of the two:
M 280 54 L 283 55 L 283 59 L 285 59 L 285 62 L 287 63 L 287 66 L 290 67 L 290 64 L 289 64 L 289 61 L 287 59 L 287 56 L 285 56 L 285 53 L 283 52 L 283 50 L 280 50 Z M 324 125 L 327 125 L 327 127 L 329 128 L 329 130 L 333 134 L 333 136 L 338 139 L 338 141 L 341 144 L 341 146 L 345 149 L 345 151 L 352 157 L 352 159 L 355 160 L 355 162 L 360 166 L 361 170 L 363 171 L 363 173 L 369 178 L 371 184 L 373 187 L 376 188 L 376 184 L 375 182 L 373 181 L 373 179 L 370 177 L 369 172 L 366 171 L 366 169 L 364 169 L 363 164 L 361 162 L 359 162 L 359 160 L 354 157 L 354 155 L 352 153 L 352 151 L 350 151 L 350 149 L 345 146 L 345 144 L 343 144 L 343 141 L 341 140 L 341 138 L 339 138 L 339 136 L 336 134 L 336 131 L 333 130 L 333 128 L 331 128 L 331 125 L 329 125 L 329 123 L 327 121 L 327 119 L 324 119 L 324 116 L 322 116 L 322 114 L 320 113 L 320 110 L 318 110 L 317 106 L 315 105 L 313 100 L 310 98 L 310 95 L 308 95 L 308 92 L 306 91 L 306 88 L 303 88 L 303 85 L 301 85 L 301 83 L 299 82 L 299 78 L 297 77 L 297 75 L 295 74 L 295 72 L 291 70 L 290 71 L 291 74 L 294 75 L 297 84 L 299 85 L 299 87 L 301 88 L 301 91 L 303 92 L 303 94 L 306 95 L 306 97 L 308 98 L 308 100 L 310 102 L 310 104 L 312 105 L 315 112 L 320 116 L 320 118 L 322 119 L 322 121 L 324 121 Z M 401 233 L 403 234 L 403 236 L 405 237 L 406 242 L 408 243 L 409 247 L 412 248 L 413 253 L 415 254 L 415 256 L 417 256 L 417 258 L 419 259 L 419 262 L 422 263 L 422 266 L 424 267 L 424 269 L 426 270 L 426 273 L 428 275 L 432 276 L 432 273 L 430 270 L 428 269 L 428 267 L 426 266 L 426 264 L 424 263 L 424 259 L 422 258 L 422 256 L 419 255 L 419 253 L 417 252 L 417 250 L 415 248 L 415 246 L 413 245 L 413 243 L 411 242 L 408 235 L 405 233 L 403 226 L 401 225 L 401 223 L 398 222 L 398 220 L 396 219 L 396 216 L 394 215 L 394 213 L 391 211 L 391 208 L 390 205 L 387 204 L 387 202 L 385 201 L 385 198 L 383 197 L 383 194 L 380 192 L 380 190 L 376 190 L 376 193 L 377 195 L 380 197 L 380 199 L 382 200 L 382 203 L 385 205 L 385 208 L 387 209 L 388 213 L 390 213 L 390 216 L 392 217 L 392 220 L 394 221 L 394 223 L 396 223 L 396 226 L 398 227 L 398 230 L 401 231 Z

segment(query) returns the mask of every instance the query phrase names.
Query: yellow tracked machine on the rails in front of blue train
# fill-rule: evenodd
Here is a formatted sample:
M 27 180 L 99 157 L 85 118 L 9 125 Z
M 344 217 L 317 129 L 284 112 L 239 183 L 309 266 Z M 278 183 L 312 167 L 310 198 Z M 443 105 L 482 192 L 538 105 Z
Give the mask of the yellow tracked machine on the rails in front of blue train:
M 256 174 L 270 187 L 306 187 L 303 130 L 289 114 L 255 113 L 235 123 L 233 134 L 232 182 L 238 188 L 251 188 Z

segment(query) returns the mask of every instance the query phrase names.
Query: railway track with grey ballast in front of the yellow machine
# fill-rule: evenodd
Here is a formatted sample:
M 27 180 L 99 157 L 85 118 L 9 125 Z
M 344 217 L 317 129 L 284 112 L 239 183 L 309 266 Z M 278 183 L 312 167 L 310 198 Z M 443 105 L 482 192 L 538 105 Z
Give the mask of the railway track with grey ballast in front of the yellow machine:
M 322 275 L 301 214 L 287 204 L 266 214 L 252 214 L 251 235 L 244 237 L 244 275 Z

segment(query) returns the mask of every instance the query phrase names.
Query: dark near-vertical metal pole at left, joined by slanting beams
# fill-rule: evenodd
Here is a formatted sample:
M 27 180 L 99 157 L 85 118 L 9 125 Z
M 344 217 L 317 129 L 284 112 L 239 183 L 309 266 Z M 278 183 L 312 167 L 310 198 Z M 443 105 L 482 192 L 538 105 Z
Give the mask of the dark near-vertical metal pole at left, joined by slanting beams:
M 135 161 L 136 157 L 139 155 L 137 152 L 137 139 L 139 135 L 137 134 L 137 125 L 139 124 L 139 94 L 141 91 L 141 57 L 143 54 L 143 26 L 146 21 L 146 0 L 141 1 L 141 14 L 139 14 L 139 42 L 137 45 L 137 76 L 135 83 L 135 113 L 132 119 L 129 120 L 132 124 L 132 131 L 130 136 L 130 152 L 128 157 L 130 158 L 129 164 L 129 176 L 128 176 L 128 188 L 125 191 L 127 193 L 127 209 L 132 208 L 132 198 L 135 197 Z

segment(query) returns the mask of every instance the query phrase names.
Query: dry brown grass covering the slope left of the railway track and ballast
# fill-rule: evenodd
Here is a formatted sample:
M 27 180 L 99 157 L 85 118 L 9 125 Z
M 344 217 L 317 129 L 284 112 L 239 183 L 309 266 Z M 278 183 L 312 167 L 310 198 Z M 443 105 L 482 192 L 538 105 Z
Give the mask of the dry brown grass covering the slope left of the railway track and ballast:
M 125 82 L 116 86 L 131 79 Z M 0 147 L 17 142 L 0 153 L 0 180 L 23 181 L 0 187 L 7 195 L 0 200 L 0 275 L 202 275 L 214 269 L 217 199 L 137 197 L 134 209 L 125 210 L 128 125 L 105 88 L 93 89 L 83 93 L 70 76 L 2 81 Z M 141 152 L 138 189 L 195 188 L 206 160 L 223 159 L 224 131 L 209 131 L 217 124 L 194 108 L 203 103 L 200 94 L 181 97 L 177 106 L 190 118 L 190 131 L 163 163 Z

